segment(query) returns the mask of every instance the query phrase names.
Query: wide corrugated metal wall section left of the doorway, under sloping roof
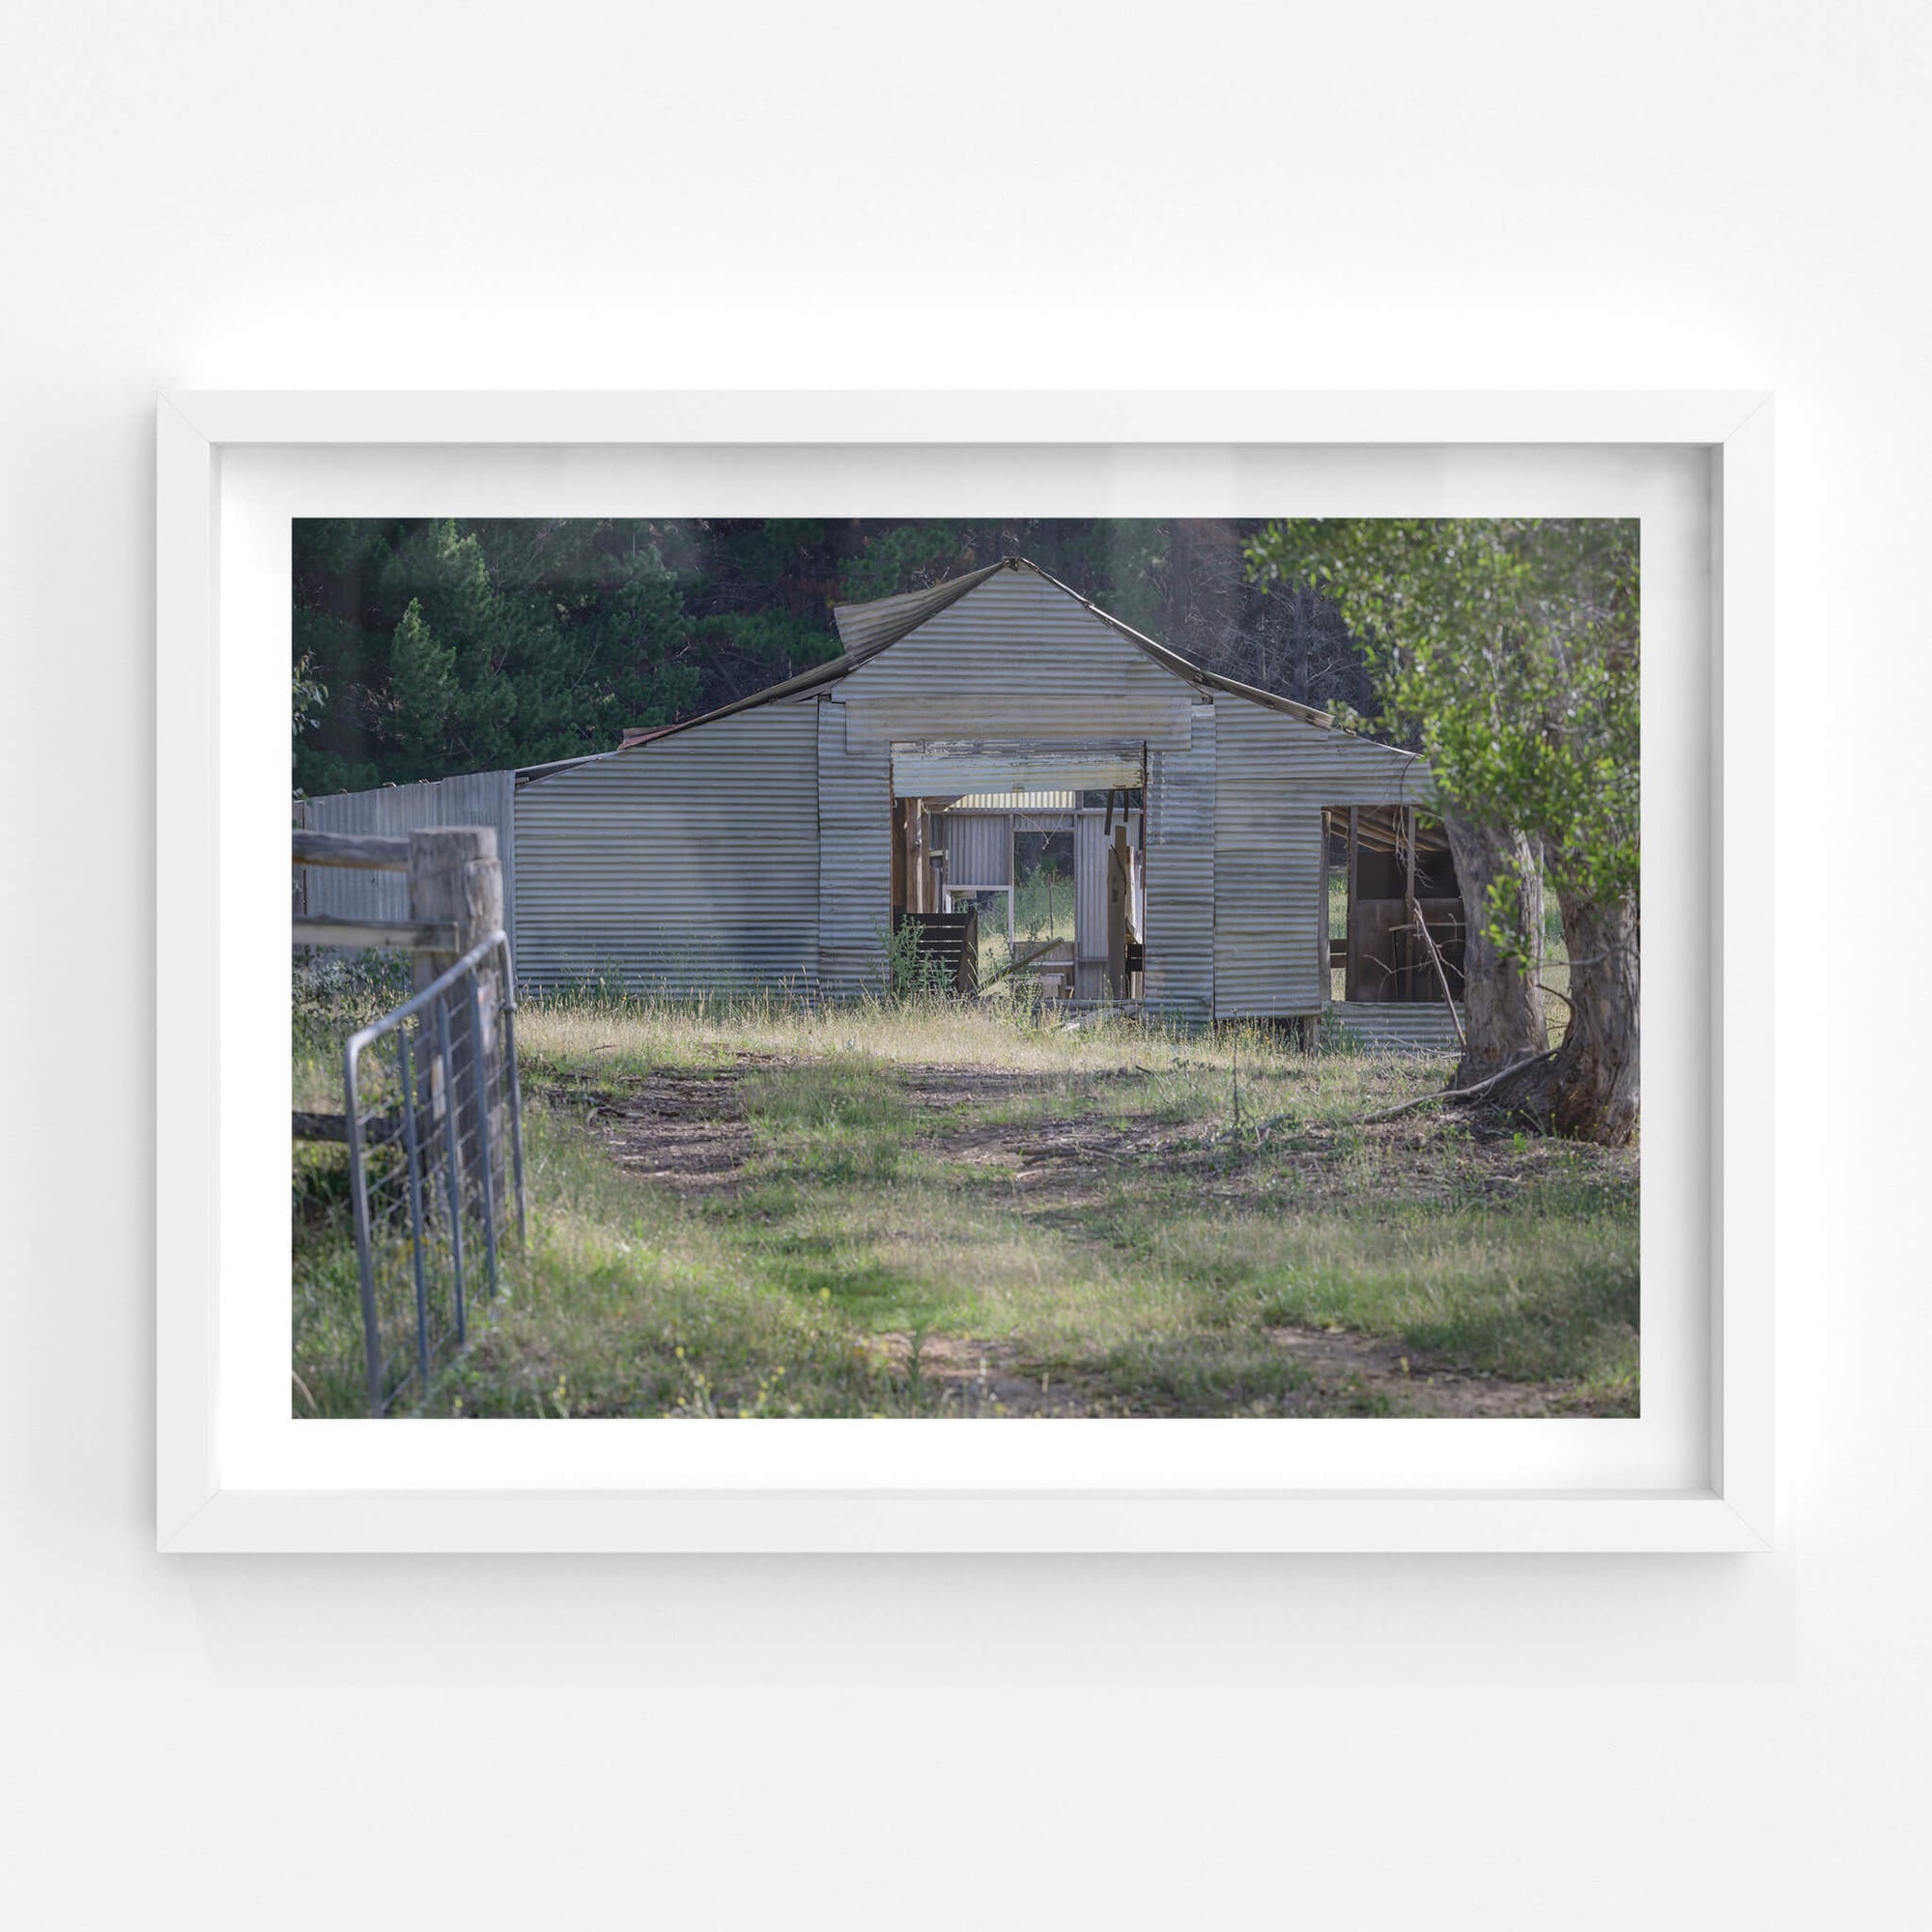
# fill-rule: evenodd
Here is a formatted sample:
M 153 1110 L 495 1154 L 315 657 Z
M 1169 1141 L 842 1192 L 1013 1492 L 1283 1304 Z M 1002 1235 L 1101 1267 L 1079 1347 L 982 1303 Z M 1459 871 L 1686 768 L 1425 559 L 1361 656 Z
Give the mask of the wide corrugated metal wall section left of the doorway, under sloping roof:
M 813 703 L 763 705 L 526 784 L 518 978 L 810 993 L 817 717 Z

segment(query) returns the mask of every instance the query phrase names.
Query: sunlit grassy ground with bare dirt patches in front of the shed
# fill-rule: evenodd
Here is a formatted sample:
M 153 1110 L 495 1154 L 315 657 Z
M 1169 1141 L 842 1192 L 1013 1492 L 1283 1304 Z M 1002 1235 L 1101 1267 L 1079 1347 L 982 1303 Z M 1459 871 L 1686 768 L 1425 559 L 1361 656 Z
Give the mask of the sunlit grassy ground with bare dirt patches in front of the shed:
M 987 1009 L 527 1003 L 529 1252 L 425 1410 L 1636 1410 L 1634 1155 L 1364 1124 L 1445 1063 Z M 303 1414 L 357 1401 L 340 1159 L 298 1171 Z

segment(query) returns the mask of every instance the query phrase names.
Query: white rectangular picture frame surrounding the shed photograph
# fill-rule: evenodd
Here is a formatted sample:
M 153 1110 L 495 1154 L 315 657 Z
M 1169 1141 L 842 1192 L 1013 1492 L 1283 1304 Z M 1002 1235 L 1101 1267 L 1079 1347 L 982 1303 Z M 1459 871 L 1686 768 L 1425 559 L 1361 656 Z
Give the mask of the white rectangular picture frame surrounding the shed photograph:
M 162 396 L 156 423 L 155 848 L 158 1546 L 178 1553 L 1770 1548 L 1777 1526 L 1774 987 L 1762 960 L 1747 972 L 1725 954 L 1723 931 L 1727 912 L 1743 927 L 1745 879 L 1762 877 L 1770 867 L 1772 417 L 1772 398 L 1762 392 Z M 1246 458 L 1269 452 L 1275 458 L 1300 452 L 1310 460 L 1321 452 L 1323 462 L 1337 452 L 1362 452 L 1370 468 L 1395 466 L 1414 475 L 1434 473 L 1451 456 L 1470 452 L 1534 462 L 1559 452 L 1646 450 L 1677 452 L 1702 466 L 1696 473 L 1708 477 L 1708 680 L 1702 686 L 1708 715 L 1698 728 L 1708 738 L 1698 744 L 1708 750 L 1708 796 L 1698 806 L 1710 827 L 1708 929 L 1685 956 L 1708 947 L 1708 960 L 1700 956 L 1685 972 L 1702 976 L 1690 991 L 1706 1003 L 1698 1010 L 1710 1022 L 1702 1030 L 1708 1061 L 1694 1068 L 1692 1080 L 1702 1094 L 1698 1151 L 1708 1159 L 1708 1198 L 1702 1200 L 1708 1219 L 1700 1223 L 1708 1229 L 1708 1273 L 1687 1289 L 1696 1296 L 1690 1320 L 1698 1349 L 1685 1349 L 1683 1360 L 1704 1366 L 1696 1376 L 1698 1414 L 1687 1424 L 1696 1453 L 1690 1461 L 1679 1459 L 1689 1472 L 1683 1480 L 1663 1486 L 1590 1480 L 1578 1474 L 1578 1463 L 1577 1468 L 1549 1464 L 1542 1480 L 1534 1468 L 1524 1468 L 1513 1480 L 1445 1484 L 1432 1480 L 1430 1443 L 1437 1437 L 1418 1434 L 1625 1428 L 1590 1422 L 1026 1422 L 1005 1432 L 976 1422 L 309 1422 L 301 1426 L 309 1432 L 305 1441 L 342 1445 L 338 1463 L 243 1455 L 245 1391 L 232 1349 L 238 1302 L 226 1304 L 224 1331 L 224 1294 L 247 1289 L 234 1236 L 236 1190 L 224 1173 L 245 1132 L 232 1076 L 253 1036 L 236 1034 L 234 987 L 224 999 L 224 960 L 240 918 L 230 887 L 242 877 L 236 866 L 253 864 L 253 833 L 251 800 L 242 796 L 247 786 L 236 781 L 242 769 L 238 721 L 245 711 L 238 703 L 236 678 L 243 659 L 232 624 L 224 636 L 224 612 L 236 609 L 230 580 L 242 568 L 240 547 L 249 527 L 257 535 L 267 527 L 259 516 L 249 524 L 243 498 L 251 489 L 265 489 L 249 479 L 265 475 L 265 464 L 282 477 L 330 464 L 361 466 L 357 473 L 363 475 L 371 466 L 381 473 L 384 462 L 433 469 L 425 452 L 444 464 L 444 473 L 458 458 L 479 473 L 541 479 L 554 477 L 560 464 L 576 462 L 595 471 L 601 456 L 672 450 L 736 450 L 748 458 L 777 452 L 773 462 L 784 452 L 850 452 L 881 475 L 889 475 L 895 462 L 912 464 L 920 452 L 980 452 L 995 469 L 1005 464 L 1009 473 L 1020 475 L 1030 456 L 1045 460 L 1047 452 L 1082 450 L 1128 452 L 1142 469 L 1165 458 L 1177 469 L 1194 471 L 1204 468 L 1204 452 L 1208 458 L 1219 452 L 1219 468 L 1206 464 L 1215 473 L 1233 473 Z M 247 500 L 270 498 L 272 491 Z M 439 514 L 468 508 L 444 502 Z M 1177 508 L 1175 514 L 1192 512 Z M 1337 508 L 1335 514 L 1354 512 Z M 1646 622 L 1648 597 L 1646 582 Z M 286 682 L 282 696 L 286 701 Z M 1648 999 L 1646 983 L 1646 1007 Z M 257 1267 L 247 1279 L 259 1289 L 259 1277 Z M 286 1291 L 278 1293 L 286 1300 Z M 1646 1350 L 1648 1345 L 1646 1302 Z M 1646 1356 L 1646 1391 L 1650 1376 Z M 645 1466 L 636 1445 L 668 1445 L 672 1437 L 638 1432 L 661 1428 L 684 1432 L 674 1439 L 676 1455 L 667 1449 L 659 1463 Z M 1244 1451 L 1217 1447 L 1242 1437 L 1215 1434 L 1350 1428 L 1389 1432 L 1383 1441 L 1395 1447 L 1378 1464 L 1383 1474 L 1345 1484 L 1256 1476 L 1240 1463 Z M 355 1434 L 369 1430 L 390 1434 Z M 439 1430 L 462 1435 L 435 1435 Z M 531 1430 L 587 1434 L 551 1435 L 539 1445 Z M 705 1464 L 709 1451 L 701 1447 L 703 1437 L 694 1435 L 705 1430 L 738 1432 L 728 1439 L 713 1437 L 719 1455 L 730 1443 L 734 1464 L 728 1472 L 723 1464 L 717 1470 Z M 819 1434 L 771 1434 L 786 1430 Z M 1001 1466 L 980 1476 L 966 1464 L 920 1474 L 904 1463 L 898 1445 L 906 1437 L 893 1434 L 900 1430 L 978 1430 L 981 1443 L 999 1437 Z M 1051 1434 L 1066 1430 L 1169 1434 Z M 825 1432 L 860 1434 L 835 1437 Z M 1084 1461 L 1084 1453 L 1070 1449 L 1103 1439 L 1128 1445 L 1126 1459 L 1115 1457 L 1103 1474 L 1090 1478 L 1082 1470 L 1099 1470 L 1097 1453 Z M 415 1474 L 390 1480 L 383 1464 L 357 1463 L 355 1455 L 377 1441 L 398 1453 L 408 1445 L 406 1461 Z M 458 1447 L 444 1455 L 442 1445 L 450 1441 Z M 554 1474 L 556 1457 L 549 1445 L 556 1441 L 583 1445 L 582 1474 L 574 1480 Z M 837 1447 L 825 1455 L 813 1451 L 817 1459 L 808 1470 L 792 1470 L 784 1443 L 808 1441 Z M 1157 1443 L 1175 1447 L 1173 1470 L 1163 1468 L 1159 1480 L 1134 1476 L 1134 1468 L 1155 1466 L 1148 1457 L 1161 1455 L 1150 1447 Z M 489 1453 L 481 1455 L 485 1445 Z M 458 1451 L 471 1461 L 452 1461 Z M 1406 1468 L 1401 1457 L 1408 1457 Z

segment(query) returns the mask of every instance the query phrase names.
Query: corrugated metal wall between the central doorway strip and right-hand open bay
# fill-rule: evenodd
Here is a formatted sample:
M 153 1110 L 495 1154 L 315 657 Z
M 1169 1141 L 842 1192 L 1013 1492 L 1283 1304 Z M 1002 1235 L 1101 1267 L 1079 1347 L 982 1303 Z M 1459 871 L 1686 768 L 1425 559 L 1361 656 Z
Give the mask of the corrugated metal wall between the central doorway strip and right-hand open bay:
M 1316 1012 L 1327 985 L 1321 808 L 1426 804 L 1426 767 L 1238 697 L 1215 701 L 1213 1010 Z

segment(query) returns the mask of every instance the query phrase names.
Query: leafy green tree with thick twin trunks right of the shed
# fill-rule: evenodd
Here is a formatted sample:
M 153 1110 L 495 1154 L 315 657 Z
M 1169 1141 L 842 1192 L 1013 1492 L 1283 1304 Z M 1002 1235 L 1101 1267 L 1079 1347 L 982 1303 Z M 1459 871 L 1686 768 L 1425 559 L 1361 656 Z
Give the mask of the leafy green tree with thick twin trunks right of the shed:
M 1638 1111 L 1638 531 L 1561 518 L 1291 520 L 1250 547 L 1364 641 L 1389 736 L 1420 744 L 1470 922 L 1464 1086 L 1605 1146 Z M 1571 1016 L 1546 1053 L 1542 887 Z M 1522 1065 L 1517 1065 L 1522 1063 Z

